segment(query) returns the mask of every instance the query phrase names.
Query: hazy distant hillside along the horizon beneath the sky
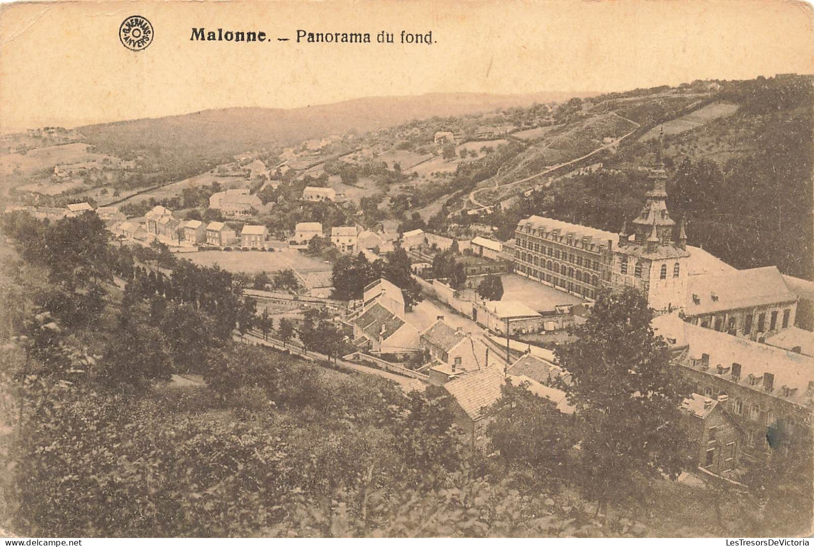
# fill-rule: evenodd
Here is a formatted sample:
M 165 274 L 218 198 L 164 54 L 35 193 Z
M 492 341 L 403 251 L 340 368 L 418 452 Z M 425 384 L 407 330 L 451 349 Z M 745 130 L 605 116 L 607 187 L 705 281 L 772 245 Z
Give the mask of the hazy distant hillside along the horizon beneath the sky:
M 131 159 L 147 154 L 205 170 L 231 155 L 264 147 L 291 146 L 309 138 L 364 133 L 413 119 L 462 116 L 496 108 L 547 103 L 571 93 L 525 95 L 426 94 L 360 98 L 344 103 L 283 110 L 224 108 L 182 116 L 86 125 L 77 130 L 98 151 Z M 589 94 L 580 94 L 587 96 Z M 187 169 L 184 169 L 185 174 Z M 172 176 L 172 170 L 168 173 Z

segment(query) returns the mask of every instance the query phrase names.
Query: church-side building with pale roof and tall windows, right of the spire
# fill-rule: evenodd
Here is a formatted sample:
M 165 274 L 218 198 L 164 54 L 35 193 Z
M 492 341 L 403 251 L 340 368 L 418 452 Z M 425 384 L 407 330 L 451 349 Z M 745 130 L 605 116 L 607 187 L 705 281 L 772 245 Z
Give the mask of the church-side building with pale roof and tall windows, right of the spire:
M 730 335 L 762 339 L 794 326 L 798 296 L 777 266 L 690 276 L 685 319 Z

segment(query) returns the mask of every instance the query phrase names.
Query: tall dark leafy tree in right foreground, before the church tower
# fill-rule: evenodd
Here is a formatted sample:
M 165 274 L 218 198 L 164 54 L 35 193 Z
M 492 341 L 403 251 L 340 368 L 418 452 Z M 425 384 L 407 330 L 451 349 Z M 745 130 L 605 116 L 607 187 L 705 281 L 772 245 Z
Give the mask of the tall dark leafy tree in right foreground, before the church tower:
M 685 435 L 682 387 L 670 352 L 650 327 L 652 311 L 632 287 L 602 291 L 576 340 L 556 350 L 580 430 L 580 485 L 606 510 L 636 474 L 675 477 Z

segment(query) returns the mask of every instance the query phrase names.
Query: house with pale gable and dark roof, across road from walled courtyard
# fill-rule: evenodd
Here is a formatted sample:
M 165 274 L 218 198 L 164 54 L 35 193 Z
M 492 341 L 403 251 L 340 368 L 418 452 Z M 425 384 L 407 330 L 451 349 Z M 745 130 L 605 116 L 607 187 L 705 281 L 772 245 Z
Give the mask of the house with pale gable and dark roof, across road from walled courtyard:
M 489 355 L 489 348 L 480 340 L 463 330 L 453 328 L 438 319 L 421 333 L 422 352 L 431 360 L 430 383 L 443 385 L 467 371 L 479 370 L 500 361 L 499 356 Z

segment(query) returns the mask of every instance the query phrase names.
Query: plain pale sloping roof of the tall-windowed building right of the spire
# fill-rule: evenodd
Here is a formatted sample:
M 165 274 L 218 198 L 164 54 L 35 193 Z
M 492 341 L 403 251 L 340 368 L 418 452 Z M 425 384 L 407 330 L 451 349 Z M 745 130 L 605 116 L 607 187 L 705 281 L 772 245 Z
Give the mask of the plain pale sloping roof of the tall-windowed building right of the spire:
M 698 304 L 695 303 L 694 296 L 698 297 Z M 796 299 L 797 295 L 786 286 L 777 267 L 766 266 L 735 270 L 728 274 L 690 277 L 684 313 L 694 316 Z

